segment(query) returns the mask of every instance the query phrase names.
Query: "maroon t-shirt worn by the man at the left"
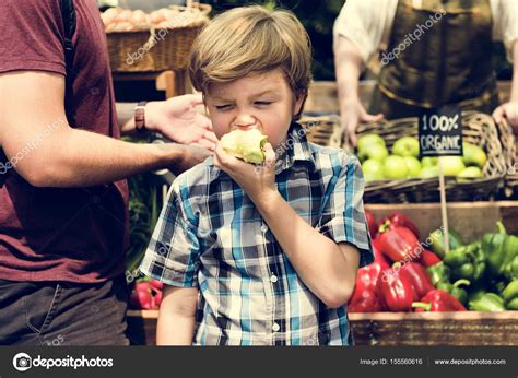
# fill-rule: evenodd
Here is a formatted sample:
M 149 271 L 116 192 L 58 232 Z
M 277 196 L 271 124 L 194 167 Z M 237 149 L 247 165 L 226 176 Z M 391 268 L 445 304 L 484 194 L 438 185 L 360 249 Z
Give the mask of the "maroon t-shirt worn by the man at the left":
M 73 128 L 118 139 L 99 11 L 95 0 L 75 0 L 74 8 L 76 76 L 68 121 Z M 33 70 L 66 75 L 61 0 L 2 0 L 0 14 L 0 73 Z M 126 181 L 35 188 L 10 169 L 0 189 L 0 279 L 93 283 L 123 273 L 127 205 Z

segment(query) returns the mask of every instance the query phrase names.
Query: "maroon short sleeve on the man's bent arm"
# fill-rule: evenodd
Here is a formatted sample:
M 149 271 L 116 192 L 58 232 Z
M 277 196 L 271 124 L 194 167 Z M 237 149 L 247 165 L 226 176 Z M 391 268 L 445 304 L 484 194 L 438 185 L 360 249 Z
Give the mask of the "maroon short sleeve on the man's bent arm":
M 0 14 L 0 72 L 36 70 L 66 74 L 59 0 L 2 0 Z

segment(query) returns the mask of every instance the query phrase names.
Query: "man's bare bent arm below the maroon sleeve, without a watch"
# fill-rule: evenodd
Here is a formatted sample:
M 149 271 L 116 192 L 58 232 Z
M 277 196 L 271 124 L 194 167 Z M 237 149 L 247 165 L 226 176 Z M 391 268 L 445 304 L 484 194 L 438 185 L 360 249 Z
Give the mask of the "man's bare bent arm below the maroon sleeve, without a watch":
M 34 186 L 83 187 L 151 169 L 179 172 L 209 155 L 179 144 L 133 144 L 72 129 L 63 98 L 64 78 L 60 74 L 0 74 L 0 145 L 8 158 L 16 162 L 16 172 Z

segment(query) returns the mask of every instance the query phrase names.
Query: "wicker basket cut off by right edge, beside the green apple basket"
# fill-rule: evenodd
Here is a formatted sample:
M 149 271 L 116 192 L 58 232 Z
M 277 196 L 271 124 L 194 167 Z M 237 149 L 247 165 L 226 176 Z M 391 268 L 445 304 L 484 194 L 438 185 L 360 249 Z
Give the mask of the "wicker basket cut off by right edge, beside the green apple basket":
M 504 119 L 498 123 L 498 133 L 502 142 L 502 150 L 506 161 L 505 191 L 507 198 L 518 194 L 518 141 L 510 125 Z

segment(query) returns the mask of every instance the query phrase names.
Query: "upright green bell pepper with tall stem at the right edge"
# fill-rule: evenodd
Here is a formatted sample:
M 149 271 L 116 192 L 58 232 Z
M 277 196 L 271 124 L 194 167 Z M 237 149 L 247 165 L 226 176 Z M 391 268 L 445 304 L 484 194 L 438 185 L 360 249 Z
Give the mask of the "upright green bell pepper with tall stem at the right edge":
M 487 258 L 487 268 L 493 276 L 513 276 L 518 269 L 518 262 L 515 262 L 518 256 L 518 237 L 507 235 L 502 222 L 497 222 L 496 227 L 497 233 L 482 237 L 482 250 Z

